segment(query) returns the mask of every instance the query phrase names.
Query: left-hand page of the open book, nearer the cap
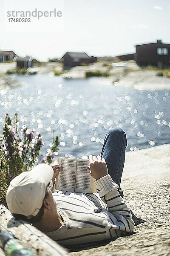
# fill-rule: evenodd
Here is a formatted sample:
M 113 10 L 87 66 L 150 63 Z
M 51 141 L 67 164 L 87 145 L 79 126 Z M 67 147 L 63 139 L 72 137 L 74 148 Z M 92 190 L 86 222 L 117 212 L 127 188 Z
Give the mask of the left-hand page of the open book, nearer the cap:
M 58 190 L 71 191 L 75 190 L 76 166 L 77 159 L 59 157 L 59 166 L 63 169 L 59 172 L 57 186 Z

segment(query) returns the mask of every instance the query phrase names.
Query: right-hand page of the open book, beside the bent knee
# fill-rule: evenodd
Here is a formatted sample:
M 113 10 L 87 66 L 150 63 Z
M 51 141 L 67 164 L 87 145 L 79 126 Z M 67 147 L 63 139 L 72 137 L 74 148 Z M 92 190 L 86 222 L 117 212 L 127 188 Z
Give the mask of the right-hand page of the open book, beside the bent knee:
M 90 171 L 87 169 L 87 166 L 89 166 L 89 160 L 77 159 L 75 192 L 83 192 L 83 193 L 96 192 L 91 190 L 93 177 L 91 176 Z M 94 179 L 93 179 L 93 182 L 94 182 Z M 96 188 L 96 185 L 94 187 L 94 190 L 95 188 Z

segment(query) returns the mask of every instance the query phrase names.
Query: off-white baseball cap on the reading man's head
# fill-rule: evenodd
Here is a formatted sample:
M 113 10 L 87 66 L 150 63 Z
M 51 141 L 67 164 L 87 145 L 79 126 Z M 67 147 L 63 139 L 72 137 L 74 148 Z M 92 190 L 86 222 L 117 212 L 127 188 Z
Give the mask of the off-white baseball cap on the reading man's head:
M 42 207 L 45 187 L 54 174 L 51 166 L 41 163 L 30 172 L 22 172 L 11 180 L 6 192 L 6 203 L 11 213 L 36 216 Z

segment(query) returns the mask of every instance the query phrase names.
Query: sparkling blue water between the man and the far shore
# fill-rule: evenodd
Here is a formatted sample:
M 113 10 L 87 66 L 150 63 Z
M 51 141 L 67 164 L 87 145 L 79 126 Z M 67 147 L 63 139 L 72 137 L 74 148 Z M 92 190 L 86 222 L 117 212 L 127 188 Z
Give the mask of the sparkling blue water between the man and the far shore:
M 20 126 L 42 133 L 43 154 L 55 134 L 59 156 L 97 155 L 111 127 L 124 129 L 127 151 L 170 143 L 170 90 L 115 87 L 102 78 L 13 77 L 25 84 L 0 95 L 0 130 L 5 114 L 17 112 Z

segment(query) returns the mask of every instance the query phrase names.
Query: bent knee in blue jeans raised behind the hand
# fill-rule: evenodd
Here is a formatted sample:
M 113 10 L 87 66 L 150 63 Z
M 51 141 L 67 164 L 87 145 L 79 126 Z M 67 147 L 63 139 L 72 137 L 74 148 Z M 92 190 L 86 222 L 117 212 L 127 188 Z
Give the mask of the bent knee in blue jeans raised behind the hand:
M 119 187 L 125 163 L 126 146 L 125 131 L 121 128 L 111 128 L 105 136 L 101 151 L 101 157 L 105 158 L 108 166 L 108 173 Z

